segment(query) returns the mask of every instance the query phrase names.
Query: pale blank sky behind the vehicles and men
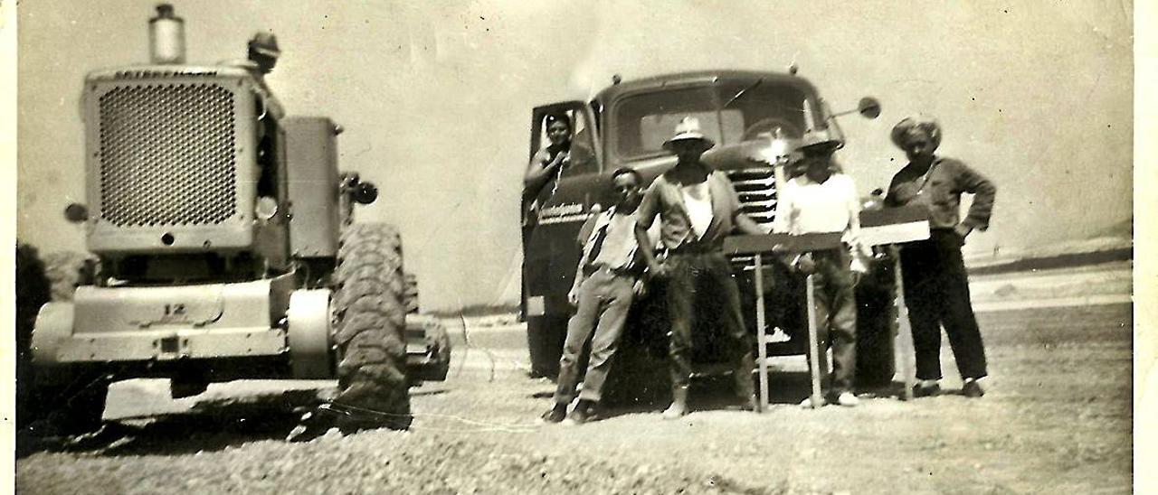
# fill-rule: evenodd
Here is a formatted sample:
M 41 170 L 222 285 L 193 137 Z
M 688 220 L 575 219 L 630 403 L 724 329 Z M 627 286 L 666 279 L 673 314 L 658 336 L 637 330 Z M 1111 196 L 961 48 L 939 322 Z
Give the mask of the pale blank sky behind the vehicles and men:
M 83 198 L 87 72 L 142 64 L 155 1 L 19 7 L 17 236 L 83 250 L 61 212 Z M 1130 219 L 1133 6 L 1117 1 L 173 1 L 191 62 L 243 57 L 272 29 L 269 79 L 290 114 L 342 124 L 340 165 L 381 189 L 359 215 L 403 234 L 427 310 L 514 303 L 519 190 L 533 106 L 624 80 L 789 64 L 842 120 L 862 192 L 903 164 L 888 131 L 936 116 L 940 154 L 998 186 L 967 253 L 1097 236 Z M 511 290 L 514 288 L 515 290 Z

